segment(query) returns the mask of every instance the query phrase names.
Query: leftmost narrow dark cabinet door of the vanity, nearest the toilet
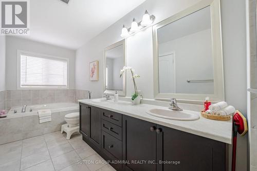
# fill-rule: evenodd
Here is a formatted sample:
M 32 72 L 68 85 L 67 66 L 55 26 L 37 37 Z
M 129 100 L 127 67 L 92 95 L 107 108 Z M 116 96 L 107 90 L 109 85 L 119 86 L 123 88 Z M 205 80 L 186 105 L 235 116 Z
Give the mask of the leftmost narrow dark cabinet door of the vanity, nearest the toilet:
M 89 136 L 90 107 L 80 103 L 80 133 L 88 139 Z

